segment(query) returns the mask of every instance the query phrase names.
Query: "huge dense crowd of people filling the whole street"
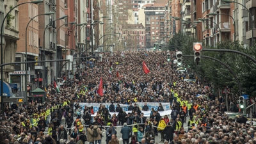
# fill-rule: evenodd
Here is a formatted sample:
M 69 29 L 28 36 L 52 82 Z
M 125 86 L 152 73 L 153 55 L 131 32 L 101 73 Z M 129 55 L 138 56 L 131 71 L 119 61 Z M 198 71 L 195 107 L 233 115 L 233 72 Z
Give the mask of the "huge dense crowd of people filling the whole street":
M 117 132 L 124 144 L 256 143 L 256 127 L 246 124 L 243 114 L 239 118 L 225 115 L 225 102 L 212 93 L 211 84 L 203 84 L 196 74 L 195 82 L 186 81 L 188 74 L 176 71 L 175 52 L 169 53 L 171 61 L 167 61 L 166 51 L 103 53 L 102 61 L 77 61 L 74 77 L 60 86 L 60 92 L 53 84 L 47 86 L 45 102 L 6 106 L 0 143 L 62 144 L 68 140 L 70 144 L 119 144 Z M 148 74 L 143 72 L 143 61 Z M 100 78 L 102 96 L 97 93 Z M 196 97 L 198 94 L 206 97 Z M 99 111 L 82 108 L 79 102 L 99 103 Z M 145 105 L 140 108 L 136 102 Z M 159 107 L 148 109 L 147 102 L 158 102 Z M 170 102 L 170 116 L 160 115 L 164 111 L 161 102 Z M 105 103 L 112 104 L 106 108 Z M 126 113 L 120 104 L 130 105 L 132 112 Z M 150 116 L 143 111 L 150 111 Z M 158 136 L 161 141 L 155 141 Z

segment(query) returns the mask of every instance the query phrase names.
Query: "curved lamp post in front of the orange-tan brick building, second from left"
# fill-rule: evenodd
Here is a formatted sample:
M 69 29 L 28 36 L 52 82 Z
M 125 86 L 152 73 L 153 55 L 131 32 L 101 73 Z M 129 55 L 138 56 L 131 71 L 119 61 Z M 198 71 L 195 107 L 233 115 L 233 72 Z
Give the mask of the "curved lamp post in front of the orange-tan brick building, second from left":
M 40 15 L 53 15 L 54 12 L 49 12 L 49 13 L 43 13 L 43 14 L 40 14 Z M 38 17 L 40 15 L 36 15 L 35 17 Z M 28 40 L 27 40 L 27 35 L 28 35 L 28 26 L 29 26 L 29 23 L 35 19 L 35 17 L 31 18 L 26 26 L 26 30 L 25 30 L 25 61 L 27 61 L 27 54 L 28 54 Z M 25 86 L 27 86 L 28 84 L 28 75 L 27 75 L 27 71 L 28 71 L 28 63 L 25 64 Z M 26 88 L 26 87 L 25 87 Z M 26 91 L 26 90 L 25 90 Z M 27 100 L 26 100 L 26 104 L 27 104 Z

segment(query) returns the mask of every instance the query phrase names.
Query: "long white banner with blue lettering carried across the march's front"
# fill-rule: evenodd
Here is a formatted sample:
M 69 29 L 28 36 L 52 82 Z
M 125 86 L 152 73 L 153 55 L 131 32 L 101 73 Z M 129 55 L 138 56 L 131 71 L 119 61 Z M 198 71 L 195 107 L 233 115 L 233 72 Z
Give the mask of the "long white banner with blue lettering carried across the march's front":
M 111 103 L 104 103 L 103 105 L 106 106 L 107 109 L 109 109 L 109 106 L 110 106 Z M 142 107 L 144 106 L 145 102 L 136 102 L 137 106 L 142 109 Z M 170 115 L 172 110 L 170 109 L 170 103 L 168 102 L 163 102 L 161 103 L 163 108 L 164 108 L 164 111 L 159 111 L 160 115 L 161 116 L 164 116 L 164 115 Z M 114 104 L 115 105 L 115 108 L 116 108 L 116 105 L 117 104 Z M 81 108 L 84 110 L 84 106 L 87 106 L 87 107 L 92 107 L 93 106 L 93 111 L 94 113 L 96 113 L 98 110 L 99 110 L 99 107 L 100 107 L 100 104 L 99 103 L 83 103 L 83 102 L 79 102 L 79 106 L 81 106 Z M 144 116 L 147 116 L 149 117 L 150 116 L 150 111 L 151 111 L 151 108 L 154 108 L 154 110 L 156 111 L 158 106 L 159 106 L 159 102 L 147 102 L 147 106 L 148 106 L 148 111 L 141 111 L 142 113 L 144 113 Z M 129 105 L 126 105 L 126 104 L 120 104 L 120 107 L 123 109 L 123 111 L 125 111 L 126 113 L 131 113 L 131 111 L 128 111 L 128 107 Z M 75 108 L 74 108 L 75 109 Z M 84 111 L 81 111 L 81 115 L 83 115 Z M 113 115 L 114 113 L 110 113 L 111 115 Z M 117 115 L 118 113 L 116 113 Z M 95 115 L 92 115 L 92 116 L 95 116 Z

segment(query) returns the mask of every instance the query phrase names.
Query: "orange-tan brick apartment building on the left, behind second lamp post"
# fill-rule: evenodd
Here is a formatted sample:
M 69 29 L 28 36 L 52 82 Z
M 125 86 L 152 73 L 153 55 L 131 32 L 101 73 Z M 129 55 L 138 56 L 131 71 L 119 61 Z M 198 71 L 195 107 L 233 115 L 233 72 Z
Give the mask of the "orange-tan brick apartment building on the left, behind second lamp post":
M 19 1 L 20 3 L 26 3 L 29 2 L 29 0 L 23 0 Z M 19 40 L 17 40 L 17 51 L 15 55 L 15 61 L 26 61 L 26 49 L 27 49 L 27 61 L 35 61 L 38 60 L 38 4 L 22 4 L 19 6 L 19 12 L 22 13 L 19 15 L 17 19 L 19 21 L 17 22 L 19 26 Z M 35 17 L 33 19 L 33 17 Z M 32 20 L 31 20 L 32 19 Z M 30 22 L 29 22 L 30 21 Z M 28 27 L 28 30 L 26 32 L 26 28 Z M 27 45 L 26 45 L 27 41 Z M 31 84 L 31 80 L 35 77 L 35 63 L 28 63 L 27 64 L 27 70 L 28 72 L 28 79 L 27 84 Z M 25 64 L 22 65 L 15 65 L 15 71 L 25 71 Z M 36 79 L 38 80 L 38 79 Z M 25 81 L 25 74 L 20 75 L 17 77 L 17 75 L 10 74 L 10 82 L 11 83 L 17 83 L 19 86 L 20 82 Z M 32 85 L 31 85 L 32 86 Z M 37 86 L 37 85 L 36 85 Z M 35 85 L 33 85 L 35 87 Z M 26 88 L 26 86 L 22 86 L 21 88 Z M 23 90 L 24 91 L 24 90 Z

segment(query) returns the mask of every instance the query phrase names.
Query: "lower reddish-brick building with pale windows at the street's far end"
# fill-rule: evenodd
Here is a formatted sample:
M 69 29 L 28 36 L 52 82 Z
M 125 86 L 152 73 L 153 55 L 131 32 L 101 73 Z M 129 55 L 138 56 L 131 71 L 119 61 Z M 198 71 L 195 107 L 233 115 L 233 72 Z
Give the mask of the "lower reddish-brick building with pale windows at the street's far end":
M 123 40 L 126 49 L 145 50 L 145 27 L 142 24 L 127 24 L 122 28 Z

